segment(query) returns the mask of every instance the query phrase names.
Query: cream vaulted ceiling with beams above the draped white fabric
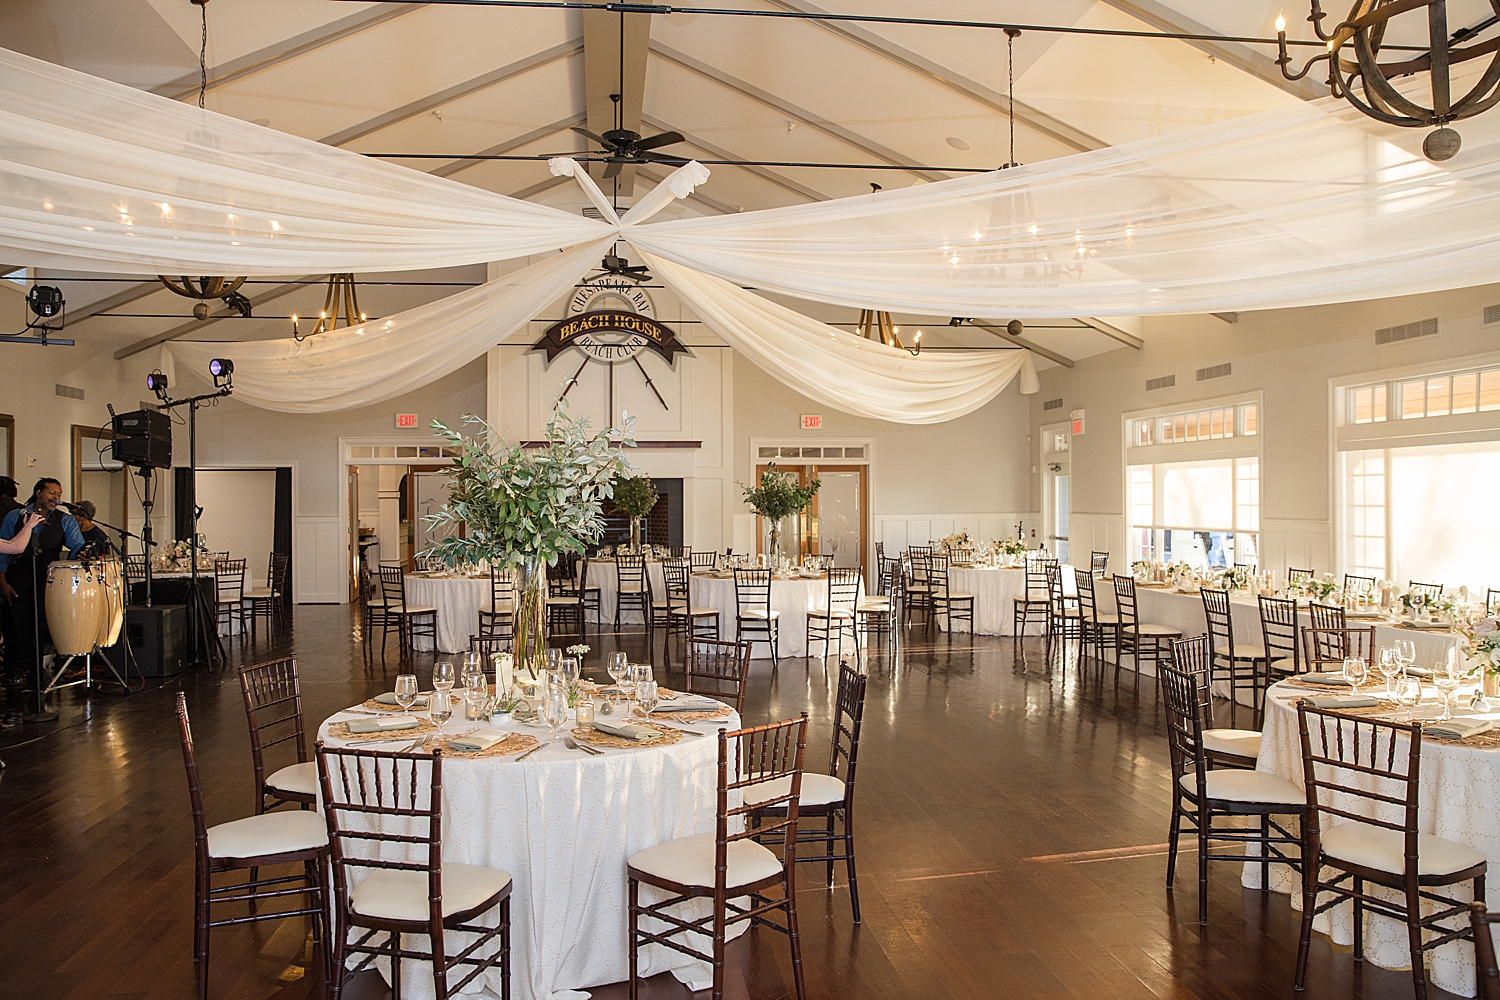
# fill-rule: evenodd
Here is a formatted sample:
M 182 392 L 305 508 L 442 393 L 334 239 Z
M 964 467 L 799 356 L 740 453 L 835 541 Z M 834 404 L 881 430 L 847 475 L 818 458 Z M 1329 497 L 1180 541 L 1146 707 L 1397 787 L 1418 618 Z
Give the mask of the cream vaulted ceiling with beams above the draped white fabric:
M 1282 10 L 1269 0 L 734 1 L 789 13 L 920 12 L 1260 37 L 1274 34 Z M 342 0 L 212 0 L 207 15 L 208 108 L 570 211 L 585 204 L 576 184 L 552 177 L 543 160 L 465 157 L 584 153 L 591 142 L 573 127 L 610 127 L 609 94 L 621 93 L 627 127 L 686 136 L 662 151 L 777 163 L 712 165 L 712 178 L 676 208 L 682 213 L 802 204 L 1011 159 L 1006 37 L 990 28 Z M 0 4 L 8 46 L 178 100 L 198 97 L 200 33 L 200 7 L 188 0 Z M 1314 82 L 1284 81 L 1274 57 L 1274 46 L 1218 39 L 1026 30 L 1014 40 L 1016 159 L 1046 160 L 1320 96 Z M 621 171 L 621 201 L 668 169 Z M 603 183 L 609 192 L 614 181 Z M 360 277 L 424 282 L 368 285 L 362 306 L 380 315 L 482 280 L 483 271 Z M 75 282 L 70 328 L 122 354 L 164 336 L 285 336 L 279 316 L 315 315 L 322 300 L 310 283 L 246 291 L 256 319 L 195 324 L 189 301 L 148 283 Z M 990 336 L 975 331 L 969 342 Z M 1028 336 L 1059 358 L 1130 339 L 1074 318 L 1036 324 Z

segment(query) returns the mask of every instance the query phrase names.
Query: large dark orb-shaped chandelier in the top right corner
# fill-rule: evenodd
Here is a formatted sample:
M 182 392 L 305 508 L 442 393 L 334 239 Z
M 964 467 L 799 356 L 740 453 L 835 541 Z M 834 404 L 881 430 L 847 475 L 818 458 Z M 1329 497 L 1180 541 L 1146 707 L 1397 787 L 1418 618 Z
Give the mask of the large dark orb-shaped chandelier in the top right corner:
M 1329 91 L 1335 97 L 1347 99 L 1371 118 L 1408 129 L 1437 126 L 1422 141 L 1422 153 L 1428 159 L 1446 160 L 1458 153 L 1461 139 L 1458 132 L 1448 127 L 1450 121 L 1470 118 L 1500 102 L 1500 31 L 1478 40 L 1500 24 L 1500 0 L 1490 0 L 1490 16 L 1456 31 L 1450 31 L 1448 25 L 1448 0 L 1354 0 L 1348 18 L 1335 24 L 1330 31 L 1323 30 L 1323 18 L 1328 15 L 1318 0 L 1311 0 L 1311 4 L 1308 22 L 1312 24 L 1318 39 L 1328 43 L 1328 51 L 1310 58 L 1300 70 L 1292 72 L 1287 22 L 1278 16 L 1276 39 L 1281 51 L 1276 66 L 1281 67 L 1281 75 L 1287 79 L 1302 79 L 1314 64 L 1326 61 Z M 1398 15 L 1414 12 L 1426 13 L 1426 52 L 1401 61 L 1382 63 L 1380 46 L 1386 40 L 1390 22 Z M 1348 57 L 1350 51 L 1353 58 Z M 1482 55 L 1490 55 L 1490 66 L 1467 93 L 1455 99 L 1452 66 Z M 1428 73 L 1431 106 L 1416 103 L 1392 85 L 1394 79 L 1413 73 Z

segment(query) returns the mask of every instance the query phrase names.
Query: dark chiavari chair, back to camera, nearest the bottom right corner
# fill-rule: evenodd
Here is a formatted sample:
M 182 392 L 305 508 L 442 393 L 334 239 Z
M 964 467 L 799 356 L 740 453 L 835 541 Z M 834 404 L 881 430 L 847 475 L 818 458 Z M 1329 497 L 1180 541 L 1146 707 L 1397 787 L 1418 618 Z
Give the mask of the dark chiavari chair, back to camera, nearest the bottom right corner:
M 1374 630 L 1371 630 L 1374 631 Z M 1306 978 L 1312 919 L 1335 906 L 1354 907 L 1354 961 L 1365 957 L 1365 912 L 1407 927 L 1412 948 L 1412 982 L 1418 1000 L 1426 997 L 1425 952 L 1458 939 L 1473 939 L 1467 903 L 1455 903 L 1434 889 L 1473 883 L 1474 898 L 1485 895 L 1485 856 L 1436 834 L 1418 832 L 1422 769 L 1420 724 L 1372 717 L 1298 702 L 1302 739 L 1302 786 L 1306 789 L 1306 832 L 1302 873 L 1302 936 L 1298 942 L 1296 990 Z M 1406 753 L 1402 753 L 1402 748 Z M 1392 807 L 1401 819 L 1388 819 Z M 1336 874 L 1324 877 L 1323 870 Z M 1352 880 L 1352 885 L 1350 885 Z M 1402 894 L 1402 901 L 1371 895 L 1365 883 Z M 1330 894 L 1328 903 L 1318 897 Z M 1431 913 L 1422 913 L 1422 903 Z M 1452 924 L 1462 921 L 1456 927 Z

